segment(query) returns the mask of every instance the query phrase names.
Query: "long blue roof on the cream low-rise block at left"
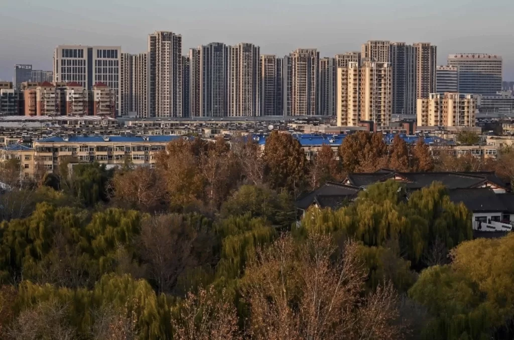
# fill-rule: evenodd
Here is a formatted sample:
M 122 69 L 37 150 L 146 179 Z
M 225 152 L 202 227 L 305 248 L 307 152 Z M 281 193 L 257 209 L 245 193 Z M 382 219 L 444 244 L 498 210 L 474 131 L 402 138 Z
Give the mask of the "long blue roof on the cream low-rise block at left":
M 194 139 L 194 137 L 185 136 L 72 136 L 67 141 L 64 140 L 66 137 L 49 137 L 40 139 L 37 142 L 40 143 L 99 143 L 105 142 L 104 138 L 108 138 L 109 142 L 114 143 L 138 143 L 138 142 L 159 142 L 167 143 L 179 138 Z M 143 139 L 148 138 L 148 140 Z

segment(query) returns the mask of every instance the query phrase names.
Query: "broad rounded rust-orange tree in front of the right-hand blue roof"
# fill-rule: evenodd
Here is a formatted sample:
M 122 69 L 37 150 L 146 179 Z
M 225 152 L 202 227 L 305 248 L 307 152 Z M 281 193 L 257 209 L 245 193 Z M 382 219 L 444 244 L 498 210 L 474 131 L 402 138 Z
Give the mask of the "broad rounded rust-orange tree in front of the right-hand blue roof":
M 382 135 L 359 131 L 344 138 L 339 147 L 343 171 L 352 174 L 375 172 L 389 162 L 388 147 Z

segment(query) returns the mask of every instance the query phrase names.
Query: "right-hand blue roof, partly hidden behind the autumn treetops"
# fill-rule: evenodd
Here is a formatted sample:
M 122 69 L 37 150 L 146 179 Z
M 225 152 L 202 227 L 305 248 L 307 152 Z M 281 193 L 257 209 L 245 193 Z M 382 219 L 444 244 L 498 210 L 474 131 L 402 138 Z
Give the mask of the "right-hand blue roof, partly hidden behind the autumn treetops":
M 300 142 L 302 146 L 321 146 L 323 144 L 326 145 L 341 145 L 346 138 L 347 135 L 330 135 L 330 134 L 322 134 L 322 135 L 310 135 L 310 134 L 292 134 L 294 138 Z M 395 134 L 386 134 L 383 136 L 384 142 L 390 145 L 393 142 Z M 408 144 L 415 144 L 419 138 L 423 138 L 425 144 L 446 144 L 446 145 L 454 145 L 455 142 L 448 141 L 446 139 L 436 137 L 436 136 L 407 136 L 407 135 L 399 135 L 400 138 L 405 140 Z M 267 135 L 252 135 L 252 139 L 259 143 L 259 145 L 264 145 L 266 143 Z

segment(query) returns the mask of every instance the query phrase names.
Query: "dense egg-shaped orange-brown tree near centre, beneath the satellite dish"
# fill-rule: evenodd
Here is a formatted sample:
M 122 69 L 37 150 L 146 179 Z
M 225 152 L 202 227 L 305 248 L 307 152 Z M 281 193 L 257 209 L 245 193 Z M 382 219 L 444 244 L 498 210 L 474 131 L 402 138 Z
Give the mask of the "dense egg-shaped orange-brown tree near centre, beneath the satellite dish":
M 307 161 L 302 146 L 290 134 L 273 131 L 264 146 L 265 178 L 276 190 L 298 193 L 305 183 Z

